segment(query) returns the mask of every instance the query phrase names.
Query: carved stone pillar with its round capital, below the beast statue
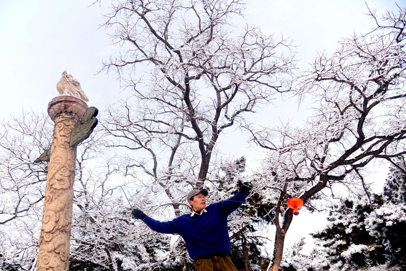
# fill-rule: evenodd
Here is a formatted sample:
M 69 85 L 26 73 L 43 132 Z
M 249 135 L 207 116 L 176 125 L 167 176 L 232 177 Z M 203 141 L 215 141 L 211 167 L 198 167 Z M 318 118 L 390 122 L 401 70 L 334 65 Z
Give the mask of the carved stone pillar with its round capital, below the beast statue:
M 54 121 L 48 166 L 37 271 L 67 271 L 71 239 L 73 183 L 76 146 L 70 147 L 71 132 L 83 118 L 87 104 L 73 96 L 59 96 L 48 104 Z

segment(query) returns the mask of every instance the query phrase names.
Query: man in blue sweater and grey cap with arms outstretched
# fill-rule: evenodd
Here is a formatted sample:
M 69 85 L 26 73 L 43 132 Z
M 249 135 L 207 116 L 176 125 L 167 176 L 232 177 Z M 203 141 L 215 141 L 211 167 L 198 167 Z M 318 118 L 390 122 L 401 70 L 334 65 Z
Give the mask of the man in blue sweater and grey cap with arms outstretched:
M 251 189 L 250 183 L 244 183 L 241 190 L 231 198 L 207 207 L 208 191 L 192 190 L 187 194 L 192 213 L 167 222 L 154 220 L 139 209 L 134 209 L 132 215 L 142 219 L 154 231 L 181 235 L 196 270 L 238 271 L 228 256 L 230 238 L 227 217 L 243 204 Z

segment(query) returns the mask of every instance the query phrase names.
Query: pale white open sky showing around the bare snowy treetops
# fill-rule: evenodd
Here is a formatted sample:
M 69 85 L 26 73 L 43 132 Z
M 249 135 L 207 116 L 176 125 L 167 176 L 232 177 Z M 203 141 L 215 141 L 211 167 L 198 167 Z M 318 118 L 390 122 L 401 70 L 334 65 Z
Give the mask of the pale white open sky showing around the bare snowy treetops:
M 108 5 L 102 0 L 102 6 Z M 259 25 L 264 33 L 275 33 L 291 37 L 297 48 L 300 65 L 306 66 L 317 51 L 332 52 L 336 41 L 350 36 L 354 31 L 365 32 L 374 26 L 365 13 L 361 0 L 248 0 L 246 19 Z M 377 14 L 387 10 L 396 11 L 394 1 L 366 1 Z M 102 111 L 106 105 L 117 100 L 119 83 L 115 76 L 105 73 L 95 75 L 101 61 L 107 60 L 114 48 L 104 29 L 98 29 L 103 22 L 99 6 L 88 7 L 91 1 L 45 1 L 45 0 L 0 0 L 0 119 L 18 115 L 24 110 L 47 113 L 48 102 L 59 95 L 56 83 L 66 70 L 77 78 L 86 95 L 89 106 Z M 398 1 L 399 5 L 404 5 Z M 296 112 L 292 103 L 277 104 L 268 108 L 266 117 L 292 117 Z M 263 118 L 264 116 L 262 116 Z M 269 118 L 272 123 L 273 119 Z M 259 116 L 259 121 L 265 121 Z M 238 136 L 237 136 L 238 137 Z M 230 151 L 230 157 L 246 155 L 248 162 L 258 154 L 249 153 L 246 145 L 235 148 L 235 142 L 222 142 Z M 385 174 L 383 174 L 385 177 Z M 323 223 L 312 217 L 305 221 L 305 214 L 294 218 L 287 234 L 285 247 L 290 247 L 305 235 L 304 223 L 311 230 L 320 229 Z M 295 233 L 295 234 L 293 234 Z M 273 234 L 270 238 L 273 239 Z M 289 235 L 294 238 L 289 238 Z

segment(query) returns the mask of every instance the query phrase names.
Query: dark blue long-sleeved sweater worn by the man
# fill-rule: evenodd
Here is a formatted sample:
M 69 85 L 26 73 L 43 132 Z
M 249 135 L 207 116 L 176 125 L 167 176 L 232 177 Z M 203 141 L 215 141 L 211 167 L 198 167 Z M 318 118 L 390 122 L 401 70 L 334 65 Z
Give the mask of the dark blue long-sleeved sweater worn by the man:
M 246 197 L 246 194 L 238 192 L 227 200 L 207 206 L 207 213 L 202 212 L 193 217 L 186 214 L 160 222 L 146 216 L 144 222 L 154 231 L 181 235 L 192 259 L 208 253 L 228 252 L 230 238 L 227 216 L 240 207 Z

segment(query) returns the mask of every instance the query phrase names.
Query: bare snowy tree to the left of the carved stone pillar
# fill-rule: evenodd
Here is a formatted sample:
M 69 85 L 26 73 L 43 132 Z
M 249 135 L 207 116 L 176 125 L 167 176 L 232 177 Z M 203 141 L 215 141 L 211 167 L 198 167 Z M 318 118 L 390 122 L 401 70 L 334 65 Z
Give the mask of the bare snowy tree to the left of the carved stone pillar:
M 51 120 L 32 112 L 0 124 L 2 270 L 28 270 L 35 265 L 48 168 L 32 162 L 49 147 L 51 135 Z

